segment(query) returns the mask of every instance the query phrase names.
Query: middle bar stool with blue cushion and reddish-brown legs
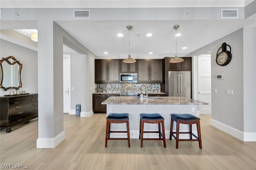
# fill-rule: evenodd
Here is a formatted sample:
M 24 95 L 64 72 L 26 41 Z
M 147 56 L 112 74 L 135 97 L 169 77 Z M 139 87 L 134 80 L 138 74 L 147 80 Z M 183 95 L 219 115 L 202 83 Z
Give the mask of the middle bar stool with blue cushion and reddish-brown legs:
M 144 131 L 144 123 L 158 123 L 158 131 Z M 162 133 L 161 133 L 161 127 L 160 123 L 162 123 Z M 158 138 L 144 138 L 144 133 L 158 133 Z M 158 113 L 153 114 L 147 114 L 147 113 L 141 113 L 140 114 L 140 134 L 139 134 L 140 140 L 140 147 L 143 145 L 143 140 L 160 140 L 164 141 L 164 147 L 166 148 L 166 142 L 165 142 L 165 133 L 164 133 L 164 117 Z

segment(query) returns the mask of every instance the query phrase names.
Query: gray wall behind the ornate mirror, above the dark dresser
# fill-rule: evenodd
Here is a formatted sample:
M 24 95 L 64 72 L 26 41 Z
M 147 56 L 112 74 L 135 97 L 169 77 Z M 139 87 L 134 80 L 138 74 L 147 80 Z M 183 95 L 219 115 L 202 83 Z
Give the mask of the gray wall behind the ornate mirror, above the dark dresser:
M 22 87 L 19 90 L 26 90 L 28 93 L 37 93 L 37 52 L 0 39 L 1 58 L 5 58 L 10 55 L 14 56 L 18 61 L 20 61 L 21 64 L 23 64 L 21 70 Z M 0 96 L 9 94 L 10 91 L 15 90 L 10 89 L 3 91 L 0 89 Z

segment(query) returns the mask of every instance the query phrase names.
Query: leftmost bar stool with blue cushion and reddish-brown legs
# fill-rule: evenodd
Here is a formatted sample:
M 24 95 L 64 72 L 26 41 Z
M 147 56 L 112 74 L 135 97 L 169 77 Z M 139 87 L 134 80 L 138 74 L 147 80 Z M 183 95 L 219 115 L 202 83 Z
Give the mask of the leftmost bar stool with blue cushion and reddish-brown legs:
M 110 113 L 108 115 L 106 125 L 105 147 L 108 145 L 108 140 L 128 140 L 130 148 L 130 131 L 129 131 L 129 114 L 128 113 Z M 127 131 L 110 131 L 111 123 L 126 123 Z M 110 133 L 127 133 L 127 138 L 110 138 Z

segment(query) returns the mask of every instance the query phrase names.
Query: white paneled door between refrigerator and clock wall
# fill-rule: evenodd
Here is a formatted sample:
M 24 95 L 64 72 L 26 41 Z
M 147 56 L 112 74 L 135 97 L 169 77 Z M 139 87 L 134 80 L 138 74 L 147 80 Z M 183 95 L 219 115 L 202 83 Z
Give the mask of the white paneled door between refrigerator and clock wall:
M 211 57 L 198 56 L 198 100 L 209 105 L 198 105 L 199 114 L 211 114 Z

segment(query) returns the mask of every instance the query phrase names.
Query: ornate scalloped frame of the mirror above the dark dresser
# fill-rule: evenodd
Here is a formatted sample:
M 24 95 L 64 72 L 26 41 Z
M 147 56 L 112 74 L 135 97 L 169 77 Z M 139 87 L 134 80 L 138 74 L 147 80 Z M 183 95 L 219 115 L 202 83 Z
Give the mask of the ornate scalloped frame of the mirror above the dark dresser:
M 12 59 L 14 60 L 12 63 L 10 61 L 8 61 L 8 59 Z M 3 82 L 3 75 L 4 75 L 4 70 L 2 67 L 2 63 L 6 61 L 8 64 L 10 65 L 14 65 L 14 64 L 18 64 L 19 67 L 19 72 L 18 72 L 18 81 L 19 81 L 19 85 L 17 87 L 4 87 L 2 82 Z M 0 75 L 0 88 L 2 88 L 4 91 L 8 90 L 8 89 L 16 89 L 18 90 L 20 87 L 22 87 L 22 83 L 21 83 L 21 79 L 20 79 L 20 74 L 21 74 L 21 68 L 22 68 L 22 64 L 20 63 L 20 61 L 17 61 L 13 56 L 8 56 L 6 58 L 2 58 L 2 60 L 0 60 L 0 71 L 1 71 L 1 75 Z

